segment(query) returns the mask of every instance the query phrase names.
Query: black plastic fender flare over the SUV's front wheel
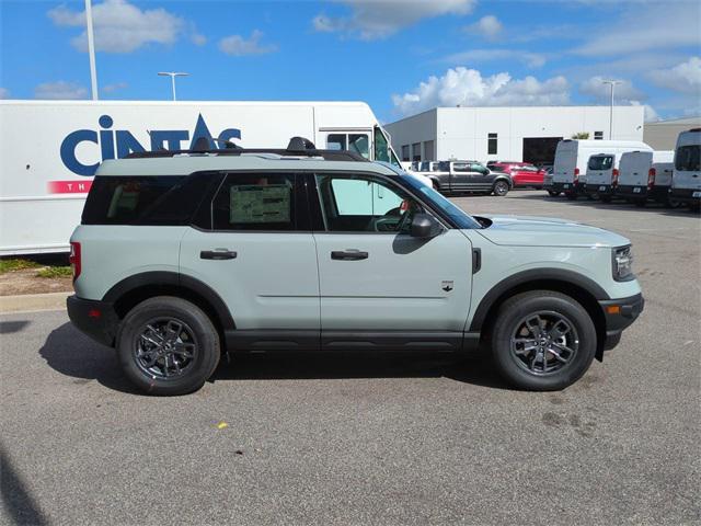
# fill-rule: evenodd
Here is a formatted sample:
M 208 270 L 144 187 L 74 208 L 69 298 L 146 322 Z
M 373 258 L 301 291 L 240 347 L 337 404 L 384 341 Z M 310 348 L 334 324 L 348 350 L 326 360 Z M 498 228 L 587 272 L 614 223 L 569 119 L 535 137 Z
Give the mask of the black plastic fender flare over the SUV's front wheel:
M 530 271 L 522 271 L 502 279 L 482 297 L 470 321 L 470 332 L 480 332 L 482 330 L 487 312 L 505 293 L 530 282 L 548 281 L 574 285 L 599 301 L 611 299 L 599 284 L 574 271 L 566 271 L 564 268 L 532 268 Z

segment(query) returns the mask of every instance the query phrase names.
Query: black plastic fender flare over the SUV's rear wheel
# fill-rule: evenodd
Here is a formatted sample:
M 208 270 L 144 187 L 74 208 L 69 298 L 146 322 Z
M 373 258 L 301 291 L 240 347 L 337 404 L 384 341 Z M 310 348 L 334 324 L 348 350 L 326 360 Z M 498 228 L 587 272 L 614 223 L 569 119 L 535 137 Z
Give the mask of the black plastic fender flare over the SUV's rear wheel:
M 235 329 L 235 323 L 233 322 L 231 312 L 229 311 L 225 300 L 221 299 L 221 296 L 219 296 L 209 285 L 200 282 L 199 279 L 185 274 L 179 274 L 177 272 L 151 271 L 135 274 L 113 285 L 102 299 L 103 301 L 114 304 L 126 294 L 138 288 L 158 288 L 159 286 L 177 287 L 203 298 L 211 306 L 225 330 Z

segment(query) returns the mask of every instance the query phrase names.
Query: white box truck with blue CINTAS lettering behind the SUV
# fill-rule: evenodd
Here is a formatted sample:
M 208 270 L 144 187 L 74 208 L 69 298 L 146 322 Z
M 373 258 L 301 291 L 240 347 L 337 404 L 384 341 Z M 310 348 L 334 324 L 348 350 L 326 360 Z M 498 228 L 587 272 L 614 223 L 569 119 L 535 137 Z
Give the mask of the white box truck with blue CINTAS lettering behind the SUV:
M 294 136 L 400 165 L 363 102 L 0 101 L 0 255 L 67 252 L 103 160 L 203 137 L 286 148 Z

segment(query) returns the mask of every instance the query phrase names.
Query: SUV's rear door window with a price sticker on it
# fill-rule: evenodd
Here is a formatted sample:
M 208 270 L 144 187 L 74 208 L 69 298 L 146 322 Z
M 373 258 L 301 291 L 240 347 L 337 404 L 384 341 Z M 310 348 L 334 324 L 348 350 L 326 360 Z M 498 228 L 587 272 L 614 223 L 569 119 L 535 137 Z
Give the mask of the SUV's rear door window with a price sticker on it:
M 231 173 L 211 203 L 215 230 L 295 230 L 295 175 Z

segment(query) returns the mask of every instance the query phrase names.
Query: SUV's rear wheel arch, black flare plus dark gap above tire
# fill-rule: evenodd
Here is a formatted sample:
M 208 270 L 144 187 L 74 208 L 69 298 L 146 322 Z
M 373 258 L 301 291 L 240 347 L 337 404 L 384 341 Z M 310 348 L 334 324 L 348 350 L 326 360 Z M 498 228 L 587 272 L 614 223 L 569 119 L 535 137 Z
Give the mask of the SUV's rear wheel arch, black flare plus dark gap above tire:
M 199 279 L 175 272 L 143 272 L 129 276 L 107 290 L 103 301 L 112 302 L 123 319 L 137 304 L 154 296 L 175 296 L 195 304 L 209 316 L 220 335 L 235 329 L 221 296 Z

